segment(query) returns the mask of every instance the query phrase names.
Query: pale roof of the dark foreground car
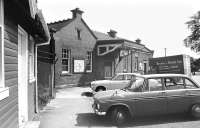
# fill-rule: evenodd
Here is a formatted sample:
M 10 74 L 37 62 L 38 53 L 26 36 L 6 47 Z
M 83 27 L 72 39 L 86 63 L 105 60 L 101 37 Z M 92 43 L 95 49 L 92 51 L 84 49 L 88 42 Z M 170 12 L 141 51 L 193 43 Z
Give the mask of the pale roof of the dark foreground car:
M 148 74 L 148 75 L 142 75 L 145 78 L 159 78 L 159 77 L 188 77 L 184 74 Z

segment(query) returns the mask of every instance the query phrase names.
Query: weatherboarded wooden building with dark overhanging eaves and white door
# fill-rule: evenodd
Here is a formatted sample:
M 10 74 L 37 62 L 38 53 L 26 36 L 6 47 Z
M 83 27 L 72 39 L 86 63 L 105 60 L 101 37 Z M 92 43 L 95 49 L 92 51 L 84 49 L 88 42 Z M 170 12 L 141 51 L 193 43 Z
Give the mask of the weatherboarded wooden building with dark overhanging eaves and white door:
M 0 0 L 0 127 L 21 128 L 37 111 L 35 45 L 49 40 L 36 0 Z

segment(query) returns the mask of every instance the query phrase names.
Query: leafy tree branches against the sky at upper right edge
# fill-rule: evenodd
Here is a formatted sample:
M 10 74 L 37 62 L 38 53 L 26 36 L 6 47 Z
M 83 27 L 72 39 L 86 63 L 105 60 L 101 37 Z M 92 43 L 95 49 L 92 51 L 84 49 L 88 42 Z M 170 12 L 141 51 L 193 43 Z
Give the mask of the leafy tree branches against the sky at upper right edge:
M 184 39 L 184 45 L 195 52 L 200 51 L 200 11 L 186 22 L 191 34 Z

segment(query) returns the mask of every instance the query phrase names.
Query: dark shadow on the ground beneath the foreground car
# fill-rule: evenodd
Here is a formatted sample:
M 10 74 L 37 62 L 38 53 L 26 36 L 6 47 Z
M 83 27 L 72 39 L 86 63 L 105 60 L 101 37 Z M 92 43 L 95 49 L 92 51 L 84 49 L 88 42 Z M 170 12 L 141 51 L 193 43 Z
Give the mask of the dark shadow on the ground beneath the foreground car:
M 79 113 L 77 114 L 76 126 L 90 127 L 90 126 L 106 126 L 112 127 L 112 123 L 105 116 L 97 116 L 94 113 Z M 186 115 L 164 115 L 164 116 L 153 116 L 153 117 L 140 117 L 137 119 L 131 119 L 126 125 L 122 127 L 132 126 L 148 126 L 157 124 L 168 124 L 168 123 L 180 123 L 195 121 L 194 119 Z

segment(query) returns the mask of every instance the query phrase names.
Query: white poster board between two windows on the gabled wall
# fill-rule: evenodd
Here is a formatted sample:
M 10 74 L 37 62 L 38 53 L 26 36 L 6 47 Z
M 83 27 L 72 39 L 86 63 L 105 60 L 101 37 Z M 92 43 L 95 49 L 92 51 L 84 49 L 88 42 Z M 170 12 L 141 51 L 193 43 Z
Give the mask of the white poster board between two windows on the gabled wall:
M 74 60 L 74 72 L 81 73 L 85 70 L 85 61 L 84 60 Z

